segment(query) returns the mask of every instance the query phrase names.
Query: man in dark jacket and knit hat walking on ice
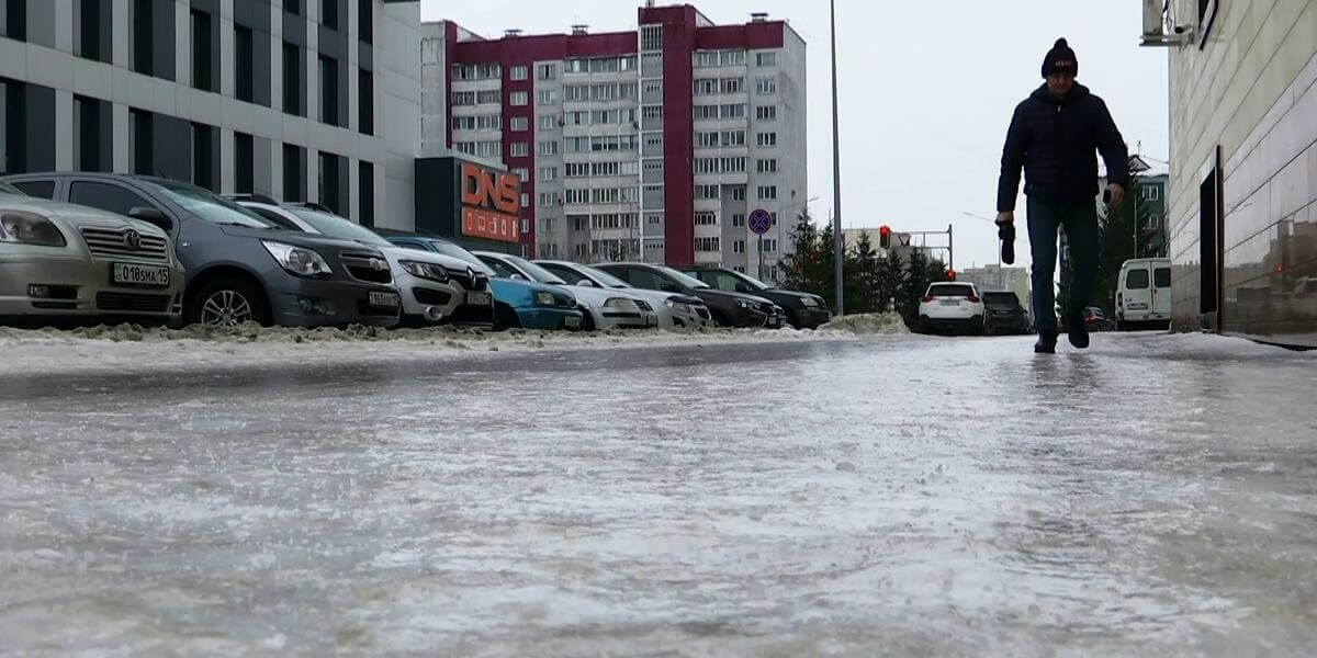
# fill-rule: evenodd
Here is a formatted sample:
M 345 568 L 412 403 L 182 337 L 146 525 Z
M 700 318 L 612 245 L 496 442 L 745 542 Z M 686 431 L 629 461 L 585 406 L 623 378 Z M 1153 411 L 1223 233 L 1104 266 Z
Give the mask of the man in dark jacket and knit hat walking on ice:
M 1071 345 L 1088 347 L 1083 311 L 1097 274 L 1097 157 L 1106 163 L 1112 207 L 1119 208 L 1130 182 L 1129 151 L 1102 99 L 1077 84 L 1079 59 L 1065 39 L 1043 59 L 1047 83 L 1015 107 L 1001 155 L 997 182 L 997 224 L 1015 221 L 1019 170 L 1029 197 L 1029 242 L 1033 246 L 1033 304 L 1038 343 L 1034 351 L 1056 351 L 1058 229 L 1065 230 L 1075 278 L 1062 309 Z

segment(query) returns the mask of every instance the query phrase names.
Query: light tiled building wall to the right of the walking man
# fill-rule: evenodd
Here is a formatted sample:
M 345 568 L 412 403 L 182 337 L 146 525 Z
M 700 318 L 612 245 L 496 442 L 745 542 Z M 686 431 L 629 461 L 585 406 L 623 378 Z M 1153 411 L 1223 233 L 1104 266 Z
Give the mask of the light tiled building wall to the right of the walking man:
M 1171 53 L 1168 211 L 1175 326 L 1317 345 L 1317 0 L 1231 0 L 1206 39 Z M 1180 24 L 1196 0 L 1175 0 Z M 1205 245 L 1200 183 L 1222 150 L 1223 224 Z M 1204 249 L 1221 253 L 1204 272 Z M 1204 316 L 1202 276 L 1221 313 Z

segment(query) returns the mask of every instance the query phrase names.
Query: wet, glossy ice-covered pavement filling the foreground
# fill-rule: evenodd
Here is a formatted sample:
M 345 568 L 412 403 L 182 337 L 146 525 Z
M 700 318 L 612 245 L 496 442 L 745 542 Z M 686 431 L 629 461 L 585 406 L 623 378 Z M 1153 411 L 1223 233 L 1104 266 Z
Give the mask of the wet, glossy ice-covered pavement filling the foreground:
M 1030 345 L 0 375 L 0 654 L 1309 655 L 1317 357 Z

